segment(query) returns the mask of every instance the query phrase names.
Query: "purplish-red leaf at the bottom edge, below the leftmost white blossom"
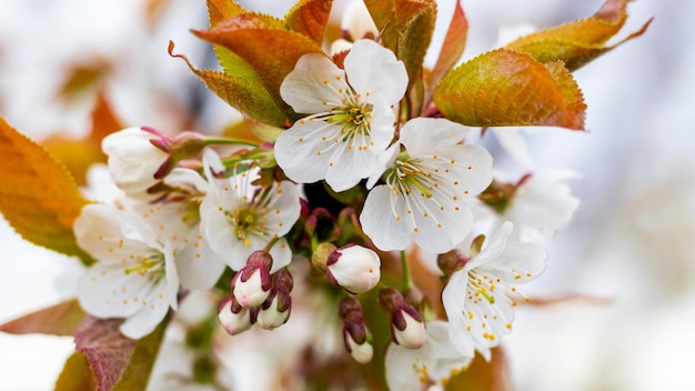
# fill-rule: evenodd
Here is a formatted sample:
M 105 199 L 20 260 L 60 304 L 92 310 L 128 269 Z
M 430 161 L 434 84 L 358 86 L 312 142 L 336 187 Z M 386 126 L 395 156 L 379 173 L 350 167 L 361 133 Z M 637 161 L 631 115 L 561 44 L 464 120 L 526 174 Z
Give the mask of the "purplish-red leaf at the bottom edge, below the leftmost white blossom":
M 119 331 L 122 320 L 87 317 L 74 332 L 75 350 L 87 357 L 97 380 L 97 390 L 108 391 L 121 378 L 137 341 Z

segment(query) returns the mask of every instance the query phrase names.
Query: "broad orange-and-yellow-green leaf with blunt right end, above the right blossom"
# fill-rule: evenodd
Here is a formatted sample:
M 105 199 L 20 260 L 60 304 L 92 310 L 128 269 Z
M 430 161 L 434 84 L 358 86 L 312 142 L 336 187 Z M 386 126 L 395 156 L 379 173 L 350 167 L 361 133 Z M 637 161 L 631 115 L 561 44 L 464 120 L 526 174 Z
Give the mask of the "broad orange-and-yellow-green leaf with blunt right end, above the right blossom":
M 450 120 L 471 127 L 555 126 L 584 129 L 586 106 L 561 62 L 544 66 L 507 49 L 455 68 L 434 90 Z

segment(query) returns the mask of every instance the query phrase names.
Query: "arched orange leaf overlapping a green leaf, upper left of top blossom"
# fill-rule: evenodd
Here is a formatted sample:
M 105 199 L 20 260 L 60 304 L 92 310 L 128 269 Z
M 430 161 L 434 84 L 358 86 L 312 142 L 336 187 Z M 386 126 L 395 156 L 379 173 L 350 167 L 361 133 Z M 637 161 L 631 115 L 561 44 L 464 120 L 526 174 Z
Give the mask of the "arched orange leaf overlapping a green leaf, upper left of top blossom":
M 224 47 L 226 50 L 234 53 L 238 59 L 234 59 L 233 61 L 235 63 L 231 66 L 239 66 L 241 63 L 239 60 L 243 60 L 243 66 L 240 69 L 225 69 L 230 77 L 234 78 L 234 74 L 238 72 L 248 74 L 250 70 L 255 72 L 256 78 L 253 80 L 246 79 L 246 86 L 244 86 L 244 82 L 240 81 L 243 88 L 249 89 L 253 87 L 253 89 L 263 89 L 262 102 L 268 103 L 266 94 L 270 94 L 275 102 L 274 106 L 283 108 L 282 112 L 285 118 L 296 117 L 292 109 L 280 97 L 280 84 L 288 73 L 294 69 L 294 64 L 300 57 L 312 52 L 323 53 L 319 43 L 299 32 L 288 31 L 283 27 L 278 27 L 275 22 L 269 20 L 268 17 L 252 13 L 228 19 L 210 30 L 194 30 L 193 33 L 205 41 Z M 249 93 L 251 97 L 259 99 L 259 96 L 253 96 L 252 91 L 249 91 Z M 241 104 L 242 103 L 238 103 L 233 106 L 236 107 Z M 254 114 L 256 114 L 258 111 L 254 112 Z M 261 118 L 258 118 L 258 116 L 251 117 L 263 121 Z M 276 121 L 276 118 L 280 116 L 272 114 L 272 117 L 275 119 L 273 122 L 264 122 L 280 126 Z

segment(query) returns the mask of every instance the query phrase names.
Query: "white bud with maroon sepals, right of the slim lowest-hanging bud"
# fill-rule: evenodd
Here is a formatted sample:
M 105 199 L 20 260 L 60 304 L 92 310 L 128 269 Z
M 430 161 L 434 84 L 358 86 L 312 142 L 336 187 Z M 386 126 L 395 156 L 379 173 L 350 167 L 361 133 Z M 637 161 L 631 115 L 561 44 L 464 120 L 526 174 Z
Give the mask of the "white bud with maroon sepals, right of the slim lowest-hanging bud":
M 425 324 L 420 313 L 405 302 L 401 292 L 384 288 L 379 292 L 379 303 L 391 313 L 391 338 L 407 349 L 420 349 L 425 343 Z

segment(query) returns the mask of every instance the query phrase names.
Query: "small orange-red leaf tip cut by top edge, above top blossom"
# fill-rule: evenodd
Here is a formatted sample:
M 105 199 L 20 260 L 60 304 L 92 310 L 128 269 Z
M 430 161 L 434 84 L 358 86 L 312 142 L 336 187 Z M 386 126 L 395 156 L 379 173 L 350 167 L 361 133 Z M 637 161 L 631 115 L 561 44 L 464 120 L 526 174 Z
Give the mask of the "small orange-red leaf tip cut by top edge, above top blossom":
M 321 43 L 332 7 L 333 0 L 301 0 L 285 14 L 285 27 Z

